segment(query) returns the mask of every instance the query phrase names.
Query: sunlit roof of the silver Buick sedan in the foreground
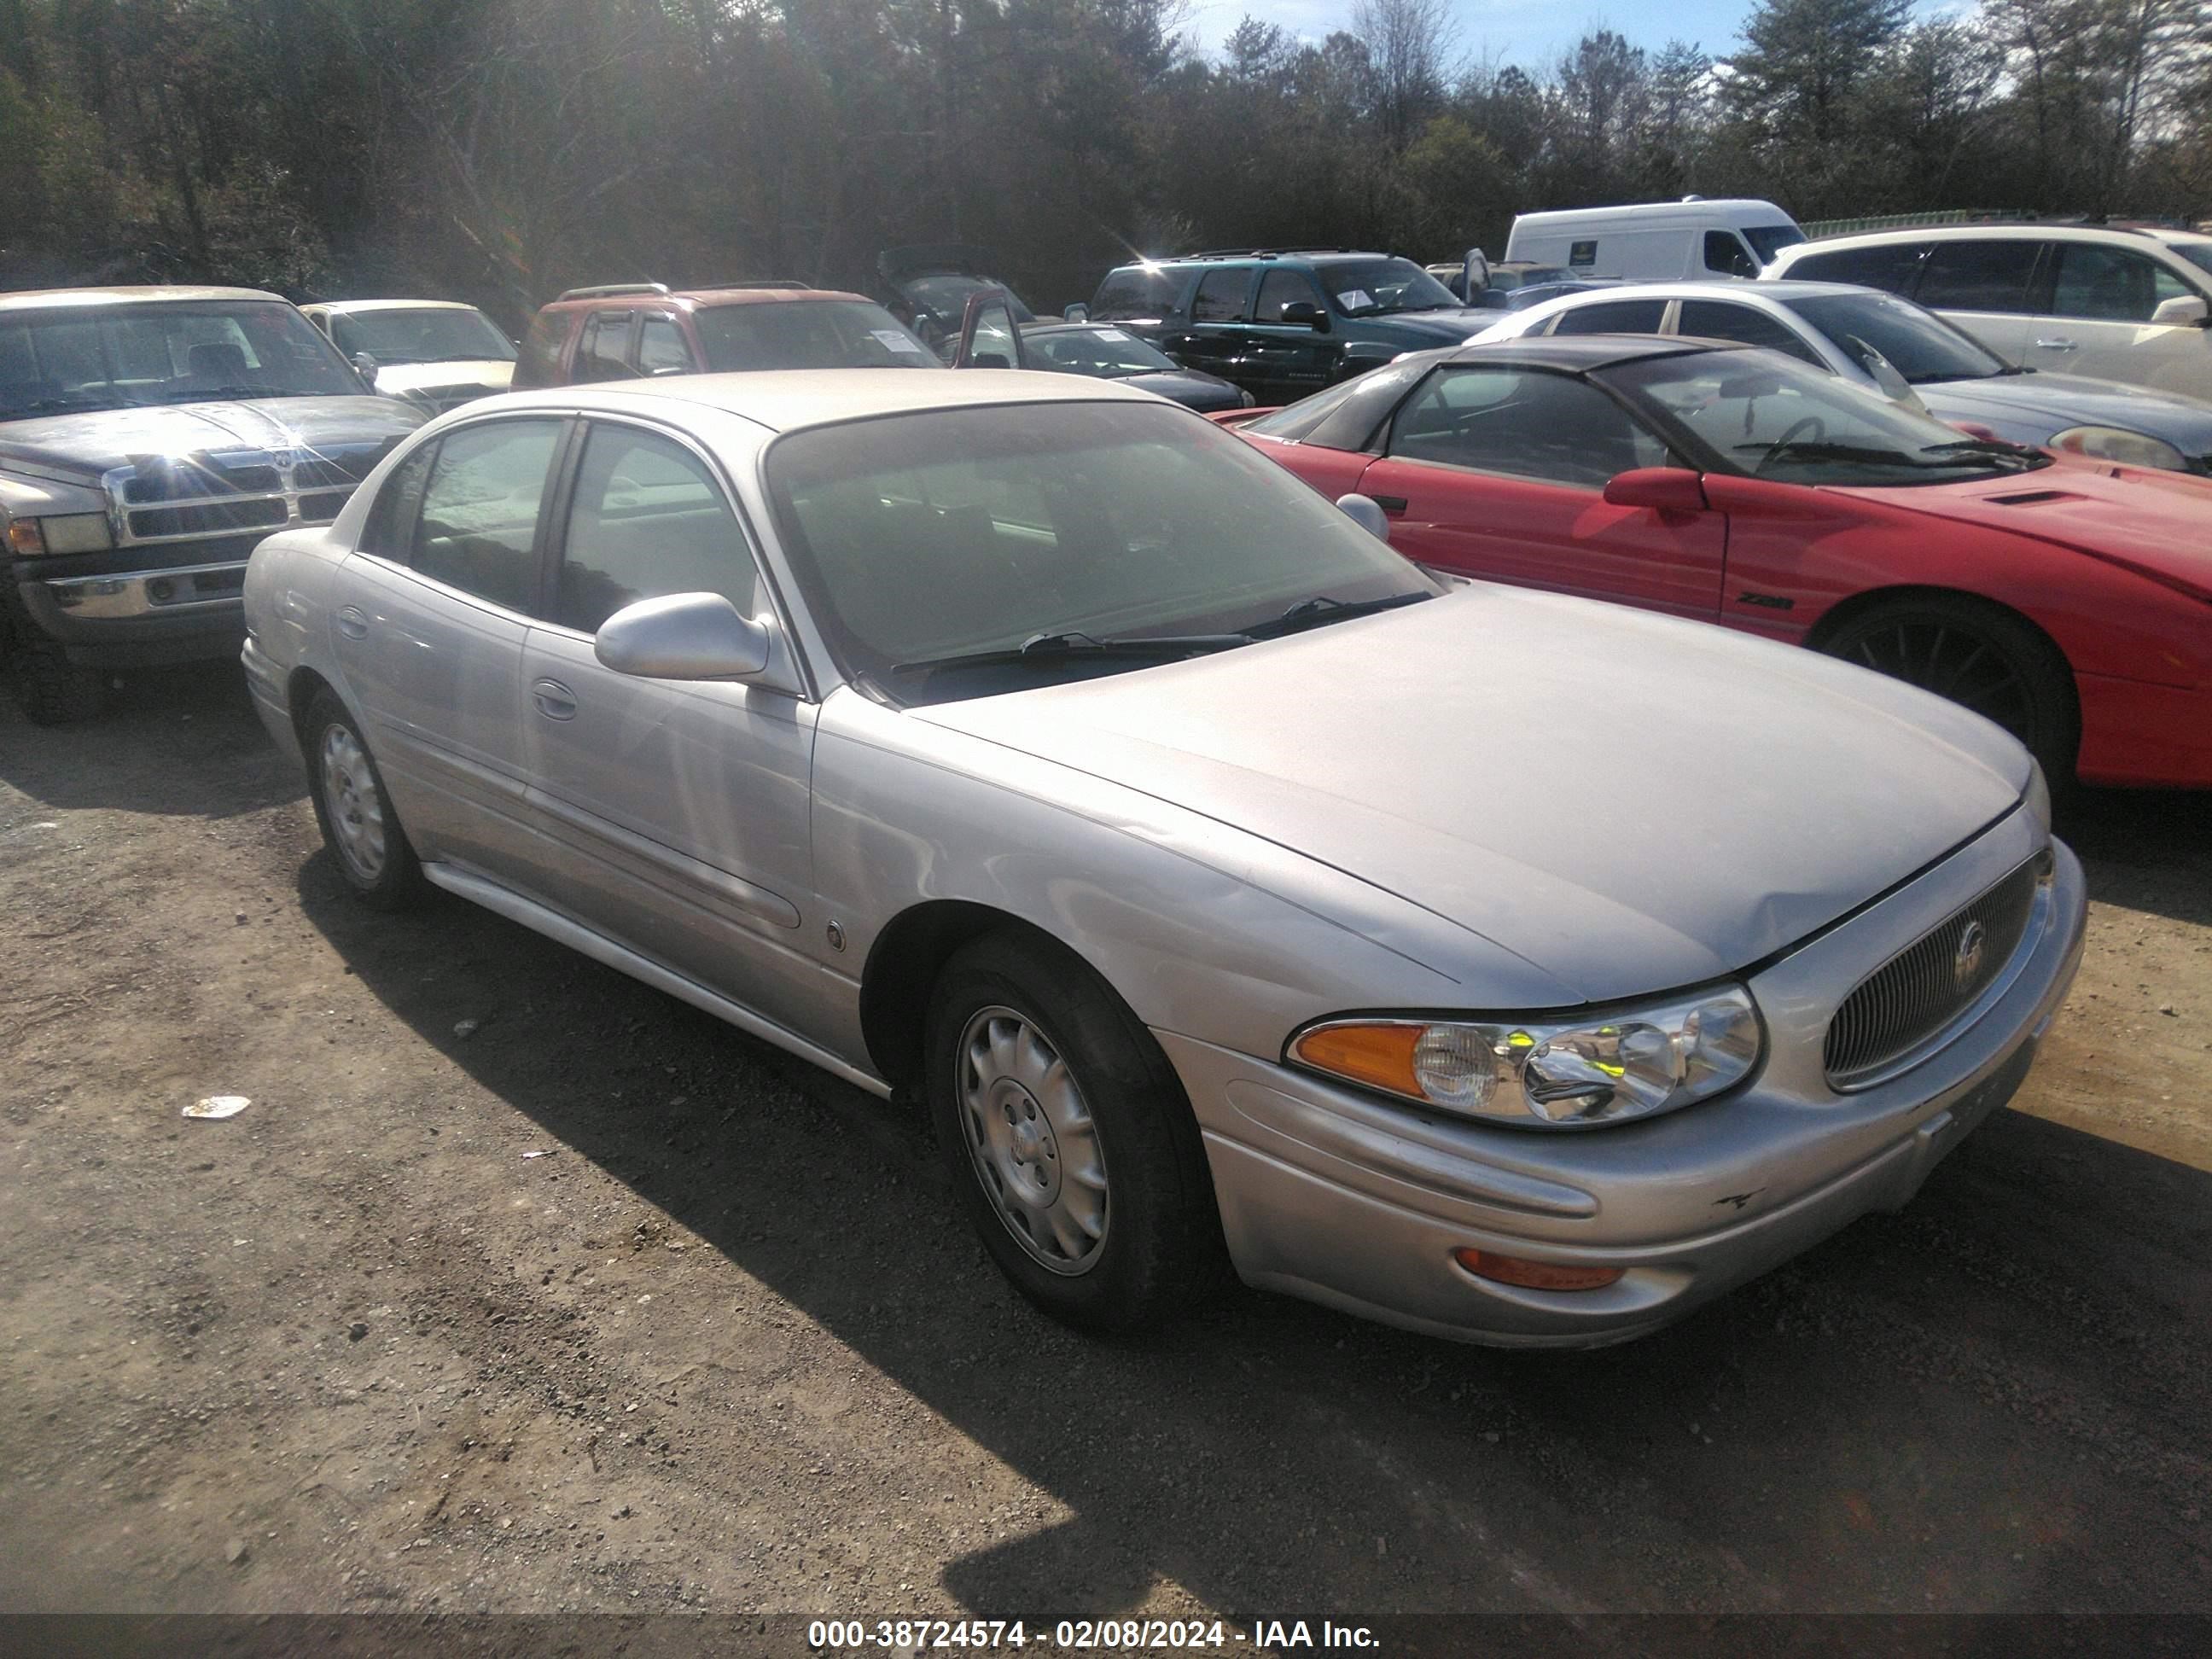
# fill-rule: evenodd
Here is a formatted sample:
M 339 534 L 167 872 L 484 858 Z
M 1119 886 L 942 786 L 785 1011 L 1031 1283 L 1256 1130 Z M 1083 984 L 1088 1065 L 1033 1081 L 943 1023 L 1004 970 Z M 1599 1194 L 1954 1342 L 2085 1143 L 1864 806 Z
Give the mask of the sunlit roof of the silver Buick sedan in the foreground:
M 1040 369 L 748 369 L 675 374 L 664 380 L 515 392 L 467 405 L 476 414 L 513 409 L 628 409 L 670 416 L 668 405 L 721 409 L 770 431 L 834 427 L 922 409 L 980 409 L 1009 403 L 1166 403 L 1150 392 Z M 1175 405 L 1166 405 L 1175 407 Z

